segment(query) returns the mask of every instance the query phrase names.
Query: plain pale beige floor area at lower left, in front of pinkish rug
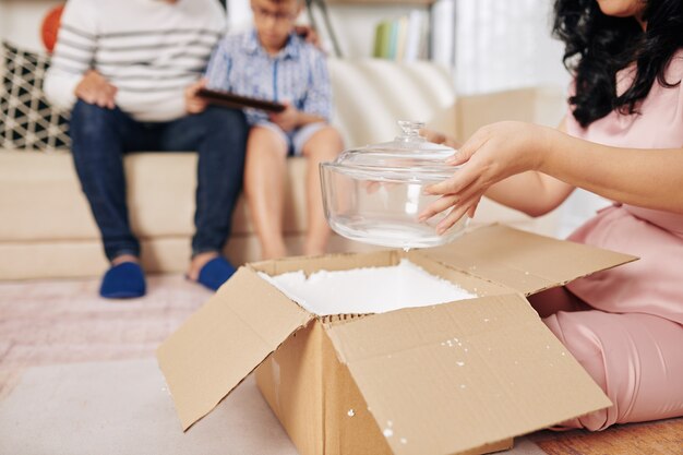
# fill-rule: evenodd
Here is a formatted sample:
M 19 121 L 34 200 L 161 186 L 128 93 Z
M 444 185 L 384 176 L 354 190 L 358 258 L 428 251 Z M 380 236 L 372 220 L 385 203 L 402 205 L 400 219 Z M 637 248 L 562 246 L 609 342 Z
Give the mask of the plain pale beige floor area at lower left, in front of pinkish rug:
M 0 454 L 296 455 L 297 451 L 253 380 L 183 433 L 156 361 L 140 359 L 28 369 L 0 402 Z

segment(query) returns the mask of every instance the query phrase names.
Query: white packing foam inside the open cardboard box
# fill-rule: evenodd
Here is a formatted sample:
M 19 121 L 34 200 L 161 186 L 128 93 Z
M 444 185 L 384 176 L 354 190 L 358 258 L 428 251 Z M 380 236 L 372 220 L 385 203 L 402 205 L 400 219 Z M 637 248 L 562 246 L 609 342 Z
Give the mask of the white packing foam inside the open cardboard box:
M 404 259 L 398 265 L 350 271 L 259 275 L 317 315 L 384 313 L 477 297 Z

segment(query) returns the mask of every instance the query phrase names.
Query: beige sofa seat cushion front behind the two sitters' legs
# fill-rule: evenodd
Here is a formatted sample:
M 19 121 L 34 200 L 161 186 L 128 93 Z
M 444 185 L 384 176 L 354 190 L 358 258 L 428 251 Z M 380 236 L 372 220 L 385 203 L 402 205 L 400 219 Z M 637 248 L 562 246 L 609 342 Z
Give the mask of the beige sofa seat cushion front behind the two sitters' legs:
M 140 238 L 189 237 L 194 231 L 196 154 L 134 153 L 125 157 L 128 203 Z M 161 171 L 159 171 L 161 169 Z M 285 232 L 305 232 L 305 160 L 290 158 Z M 0 149 L 0 241 L 99 239 L 71 155 Z M 253 234 L 243 197 L 233 234 Z

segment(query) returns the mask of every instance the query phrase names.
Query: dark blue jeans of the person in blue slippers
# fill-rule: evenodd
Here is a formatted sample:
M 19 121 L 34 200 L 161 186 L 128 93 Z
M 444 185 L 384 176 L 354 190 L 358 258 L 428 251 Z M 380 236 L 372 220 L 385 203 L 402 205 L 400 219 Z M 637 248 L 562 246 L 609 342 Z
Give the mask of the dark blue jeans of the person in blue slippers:
M 209 107 L 178 120 L 145 123 L 119 108 L 79 100 L 70 129 L 76 172 L 109 261 L 140 255 L 125 203 L 123 155 L 129 152 L 199 153 L 192 253 L 223 250 L 242 188 L 248 127 L 240 110 Z

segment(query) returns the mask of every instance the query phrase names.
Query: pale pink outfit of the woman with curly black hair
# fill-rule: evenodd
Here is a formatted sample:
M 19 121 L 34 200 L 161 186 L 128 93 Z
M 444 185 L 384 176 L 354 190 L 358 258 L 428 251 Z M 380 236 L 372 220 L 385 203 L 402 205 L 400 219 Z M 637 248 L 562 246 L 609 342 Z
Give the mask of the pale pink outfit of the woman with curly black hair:
M 618 73 L 619 93 L 633 76 L 631 68 Z M 680 50 L 667 81 L 682 79 Z M 683 147 L 683 83 L 667 88 L 655 82 L 638 110 L 640 115 L 612 111 L 586 129 L 570 113 L 566 130 L 610 146 Z M 683 191 L 683 169 L 681 183 Z M 683 416 L 683 215 L 616 202 L 570 240 L 640 260 L 571 283 L 566 288 L 587 306 L 559 308 L 563 311 L 543 320 L 614 404 L 564 427 L 601 430 Z M 543 314 L 542 299 L 534 304 Z

